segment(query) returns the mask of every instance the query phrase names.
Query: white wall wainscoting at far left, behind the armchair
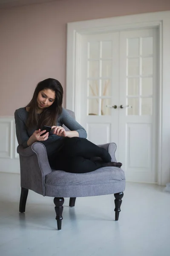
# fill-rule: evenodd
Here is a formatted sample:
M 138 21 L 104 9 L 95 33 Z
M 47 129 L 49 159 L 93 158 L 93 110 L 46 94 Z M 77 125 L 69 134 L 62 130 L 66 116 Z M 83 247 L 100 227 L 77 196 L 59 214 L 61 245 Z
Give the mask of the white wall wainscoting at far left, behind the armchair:
M 14 117 L 0 117 L 0 172 L 20 173 Z

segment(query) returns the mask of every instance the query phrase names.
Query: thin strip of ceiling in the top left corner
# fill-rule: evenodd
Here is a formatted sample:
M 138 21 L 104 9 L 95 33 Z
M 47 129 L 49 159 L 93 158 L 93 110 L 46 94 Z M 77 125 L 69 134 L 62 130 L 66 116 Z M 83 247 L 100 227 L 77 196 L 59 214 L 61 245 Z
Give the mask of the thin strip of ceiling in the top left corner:
M 53 1 L 63 1 L 63 0 L 0 0 L 0 9 L 7 9 L 12 7 L 24 6 L 33 3 L 46 3 Z

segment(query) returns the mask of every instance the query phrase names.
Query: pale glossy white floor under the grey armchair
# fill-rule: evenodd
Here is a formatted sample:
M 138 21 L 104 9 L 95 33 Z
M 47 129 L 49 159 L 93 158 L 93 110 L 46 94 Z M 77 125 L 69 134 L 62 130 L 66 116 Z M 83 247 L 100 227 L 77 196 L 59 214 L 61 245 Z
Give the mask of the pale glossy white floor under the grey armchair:
M 30 191 L 20 214 L 20 176 L 0 173 L 0 256 L 169 256 L 170 193 L 127 183 L 119 221 L 114 196 L 65 199 L 56 230 L 53 198 Z

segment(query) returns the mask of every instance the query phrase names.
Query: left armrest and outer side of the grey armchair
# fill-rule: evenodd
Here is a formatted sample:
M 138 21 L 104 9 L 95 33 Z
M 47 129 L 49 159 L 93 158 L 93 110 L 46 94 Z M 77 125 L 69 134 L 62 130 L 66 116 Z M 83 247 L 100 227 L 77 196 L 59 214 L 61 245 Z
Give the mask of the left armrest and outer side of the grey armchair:
M 28 148 L 19 145 L 17 152 L 20 156 L 21 187 L 45 196 L 46 175 L 52 172 L 46 147 L 36 142 Z

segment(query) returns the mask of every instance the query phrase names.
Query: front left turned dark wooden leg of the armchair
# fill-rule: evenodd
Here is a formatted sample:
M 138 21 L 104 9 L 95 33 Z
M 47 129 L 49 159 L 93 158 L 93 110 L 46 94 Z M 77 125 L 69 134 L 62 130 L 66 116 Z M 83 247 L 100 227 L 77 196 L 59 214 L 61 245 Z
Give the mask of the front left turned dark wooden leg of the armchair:
M 61 221 L 63 219 L 63 216 L 62 216 L 63 203 L 64 203 L 64 198 L 54 198 L 55 212 L 56 212 L 55 219 L 57 221 L 58 230 L 61 230 Z

